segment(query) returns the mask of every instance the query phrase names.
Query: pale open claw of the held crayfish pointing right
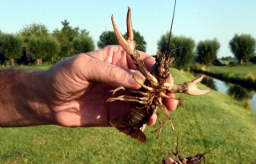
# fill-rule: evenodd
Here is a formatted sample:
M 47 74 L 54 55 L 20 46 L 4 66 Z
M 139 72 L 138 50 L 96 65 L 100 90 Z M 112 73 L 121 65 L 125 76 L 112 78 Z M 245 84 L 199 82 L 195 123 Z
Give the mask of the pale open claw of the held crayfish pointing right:
M 199 78 L 195 78 L 192 82 L 185 82 L 184 84 L 187 86 L 185 93 L 194 96 L 208 94 L 211 90 L 200 90 L 197 86 L 198 82 L 201 82 L 203 77 L 204 75 Z

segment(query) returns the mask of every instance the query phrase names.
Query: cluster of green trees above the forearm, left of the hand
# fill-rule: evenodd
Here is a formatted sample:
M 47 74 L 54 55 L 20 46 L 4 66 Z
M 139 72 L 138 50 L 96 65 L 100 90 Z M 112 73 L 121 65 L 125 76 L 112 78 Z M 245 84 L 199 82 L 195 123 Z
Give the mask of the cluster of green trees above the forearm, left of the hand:
M 61 30 L 52 33 L 46 26 L 36 23 L 23 27 L 18 34 L 0 32 L 0 61 L 9 60 L 11 65 L 21 58 L 23 62 L 36 61 L 41 65 L 42 60 L 56 62 L 90 50 L 94 50 L 94 41 L 89 32 L 70 26 L 66 20 L 62 22 Z

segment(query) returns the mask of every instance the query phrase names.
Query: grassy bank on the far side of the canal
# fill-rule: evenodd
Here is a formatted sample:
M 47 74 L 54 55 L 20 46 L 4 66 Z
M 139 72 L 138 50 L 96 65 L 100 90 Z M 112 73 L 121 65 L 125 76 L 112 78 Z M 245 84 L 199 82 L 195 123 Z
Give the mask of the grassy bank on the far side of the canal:
M 240 83 L 244 86 L 256 88 L 256 65 L 244 66 L 201 66 L 196 65 L 192 70 L 203 74 L 210 74 L 228 82 Z

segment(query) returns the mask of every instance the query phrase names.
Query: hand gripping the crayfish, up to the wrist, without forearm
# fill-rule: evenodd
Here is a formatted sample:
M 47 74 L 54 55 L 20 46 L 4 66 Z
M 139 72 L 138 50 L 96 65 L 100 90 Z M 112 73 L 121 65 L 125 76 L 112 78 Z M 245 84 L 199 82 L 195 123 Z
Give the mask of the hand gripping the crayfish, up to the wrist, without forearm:
M 148 70 L 154 58 L 142 53 L 141 58 Z M 111 118 L 124 118 L 130 113 L 130 102 L 106 102 L 109 92 L 118 86 L 138 90 L 141 86 L 132 78 L 145 78 L 126 55 L 121 46 L 106 46 L 87 54 L 78 54 L 54 65 L 45 72 L 46 102 L 61 126 L 109 126 Z M 170 82 L 173 79 L 170 78 Z M 168 93 L 171 97 L 171 95 Z M 168 110 L 174 110 L 174 99 L 163 99 Z M 153 125 L 157 115 L 153 114 L 148 125 Z

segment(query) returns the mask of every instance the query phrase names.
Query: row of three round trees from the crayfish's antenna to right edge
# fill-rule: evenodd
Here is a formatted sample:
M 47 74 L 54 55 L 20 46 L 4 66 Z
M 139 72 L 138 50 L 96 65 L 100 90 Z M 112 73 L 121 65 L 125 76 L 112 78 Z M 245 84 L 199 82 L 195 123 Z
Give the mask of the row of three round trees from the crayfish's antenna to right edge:
M 167 42 L 170 33 L 161 36 L 158 41 L 158 50 L 163 52 L 167 49 Z M 229 42 L 230 50 L 240 64 L 243 62 L 256 63 L 255 49 L 256 40 L 250 34 L 234 34 Z M 171 48 L 174 50 L 172 56 L 175 58 L 174 64 L 178 68 L 189 67 L 194 62 L 205 65 L 214 64 L 217 60 L 217 53 L 220 44 L 217 38 L 206 39 L 195 45 L 193 38 L 184 36 L 174 36 L 171 38 Z

